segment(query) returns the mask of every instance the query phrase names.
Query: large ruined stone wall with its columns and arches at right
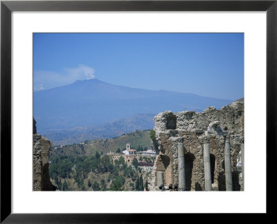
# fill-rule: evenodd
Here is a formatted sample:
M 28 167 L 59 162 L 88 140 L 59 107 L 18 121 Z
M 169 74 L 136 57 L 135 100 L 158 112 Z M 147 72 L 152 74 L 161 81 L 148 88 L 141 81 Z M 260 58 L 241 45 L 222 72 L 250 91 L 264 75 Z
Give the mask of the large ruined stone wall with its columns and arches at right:
M 163 112 L 154 122 L 159 155 L 150 190 L 159 190 L 161 184 L 179 191 L 243 190 L 237 169 L 238 155 L 244 151 L 242 101 L 220 110 Z

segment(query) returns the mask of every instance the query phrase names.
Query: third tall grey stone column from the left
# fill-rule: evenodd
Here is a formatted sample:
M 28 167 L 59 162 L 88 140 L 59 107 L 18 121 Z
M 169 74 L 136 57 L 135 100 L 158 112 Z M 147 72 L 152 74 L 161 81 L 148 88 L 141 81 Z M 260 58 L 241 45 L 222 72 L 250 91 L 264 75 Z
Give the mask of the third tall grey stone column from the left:
M 226 191 L 233 191 L 231 150 L 230 150 L 230 136 L 229 135 L 227 135 L 225 137 L 224 165 L 225 165 Z

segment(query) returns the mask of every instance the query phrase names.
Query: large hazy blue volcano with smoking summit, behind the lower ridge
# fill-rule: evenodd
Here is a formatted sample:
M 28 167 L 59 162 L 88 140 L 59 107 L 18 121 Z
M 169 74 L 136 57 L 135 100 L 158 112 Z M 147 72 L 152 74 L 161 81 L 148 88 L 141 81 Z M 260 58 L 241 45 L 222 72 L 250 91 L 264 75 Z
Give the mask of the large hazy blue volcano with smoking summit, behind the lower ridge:
M 71 85 L 34 92 L 33 102 L 39 133 L 94 126 L 134 114 L 158 114 L 166 110 L 199 112 L 208 106 L 219 109 L 231 103 L 195 94 L 123 87 L 98 79 L 78 80 Z

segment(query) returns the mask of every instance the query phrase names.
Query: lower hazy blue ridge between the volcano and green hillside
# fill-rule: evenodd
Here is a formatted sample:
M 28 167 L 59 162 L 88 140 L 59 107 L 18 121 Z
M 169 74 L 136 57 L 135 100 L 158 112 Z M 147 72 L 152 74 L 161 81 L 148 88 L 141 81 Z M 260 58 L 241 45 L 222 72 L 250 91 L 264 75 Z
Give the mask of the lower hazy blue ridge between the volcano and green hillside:
M 42 135 L 51 139 L 51 142 L 55 146 L 79 143 L 89 139 L 113 138 L 135 130 L 154 128 L 154 116 L 155 114 L 136 114 L 126 119 L 119 119 L 94 126 L 46 130 Z

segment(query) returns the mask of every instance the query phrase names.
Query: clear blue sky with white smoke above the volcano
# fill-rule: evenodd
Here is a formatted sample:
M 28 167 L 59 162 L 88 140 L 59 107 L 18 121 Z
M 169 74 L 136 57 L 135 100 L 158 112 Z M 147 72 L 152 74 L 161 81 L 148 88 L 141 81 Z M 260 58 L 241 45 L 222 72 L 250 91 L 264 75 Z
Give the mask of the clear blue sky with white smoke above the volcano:
M 34 33 L 34 90 L 98 78 L 230 100 L 244 96 L 243 33 Z

